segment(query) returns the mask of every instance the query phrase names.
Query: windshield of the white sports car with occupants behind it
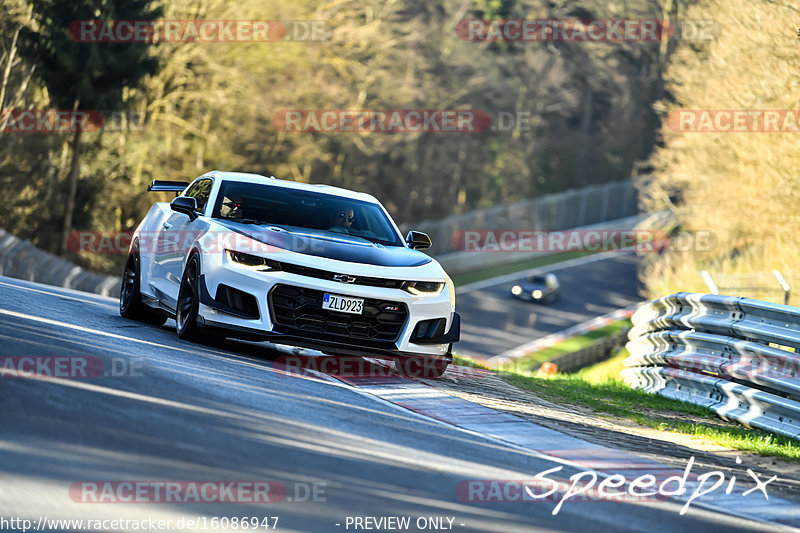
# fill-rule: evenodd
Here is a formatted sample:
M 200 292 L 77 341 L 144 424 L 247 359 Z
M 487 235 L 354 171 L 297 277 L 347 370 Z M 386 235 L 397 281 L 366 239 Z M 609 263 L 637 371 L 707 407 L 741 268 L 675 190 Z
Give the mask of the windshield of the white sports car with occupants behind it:
M 329 231 L 385 246 L 405 246 L 384 211 L 374 203 L 285 187 L 223 182 L 213 218 L 249 224 Z

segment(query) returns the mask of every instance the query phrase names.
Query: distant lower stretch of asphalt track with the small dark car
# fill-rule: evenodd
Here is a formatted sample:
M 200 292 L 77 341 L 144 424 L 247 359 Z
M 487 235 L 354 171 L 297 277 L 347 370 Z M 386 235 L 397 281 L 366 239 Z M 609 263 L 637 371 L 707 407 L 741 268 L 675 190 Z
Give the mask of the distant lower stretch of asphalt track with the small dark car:
M 492 356 L 596 316 L 642 301 L 637 294 L 637 258 L 611 254 L 599 261 L 550 270 L 561 283 L 558 301 L 540 305 L 511 296 L 514 281 L 466 294 L 456 292 L 461 342 L 456 352 Z M 540 269 L 548 272 L 548 267 Z M 523 276 L 520 276 L 520 279 Z

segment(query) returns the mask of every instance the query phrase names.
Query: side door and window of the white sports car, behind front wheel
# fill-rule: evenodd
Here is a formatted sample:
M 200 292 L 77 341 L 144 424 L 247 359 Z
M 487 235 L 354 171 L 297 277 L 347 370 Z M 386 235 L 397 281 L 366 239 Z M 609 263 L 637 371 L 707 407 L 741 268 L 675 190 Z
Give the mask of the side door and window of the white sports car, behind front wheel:
M 172 212 L 159 228 L 160 254 L 157 260 L 161 286 L 159 291 L 162 301 L 170 308 L 175 308 L 178 301 L 183 261 L 195 239 L 208 229 L 205 209 L 211 196 L 214 181 L 204 178 L 193 183 L 184 196 L 195 199 L 197 217 L 192 220 L 184 213 Z

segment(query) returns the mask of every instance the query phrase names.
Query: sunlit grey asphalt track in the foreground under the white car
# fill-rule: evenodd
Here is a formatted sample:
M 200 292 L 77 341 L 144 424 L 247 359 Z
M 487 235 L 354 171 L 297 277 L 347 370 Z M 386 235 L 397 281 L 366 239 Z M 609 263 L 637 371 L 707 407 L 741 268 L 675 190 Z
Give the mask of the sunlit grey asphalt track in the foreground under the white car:
M 279 517 L 278 531 L 312 532 L 382 516 L 440 517 L 428 526 L 454 531 L 778 529 L 699 507 L 680 516 L 669 500 L 568 503 L 555 516 L 553 503 L 464 501 L 460 481 L 531 479 L 555 463 L 332 378 L 288 376 L 280 352 L 263 345 L 181 341 L 170 324 L 140 325 L 114 300 L 0 278 L 4 361 L 103 362 L 97 377 L 0 380 L 0 516 L 151 518 L 173 520 L 171 530 L 200 516 Z M 137 480 L 267 481 L 286 493 L 258 504 L 92 503 L 75 489 Z

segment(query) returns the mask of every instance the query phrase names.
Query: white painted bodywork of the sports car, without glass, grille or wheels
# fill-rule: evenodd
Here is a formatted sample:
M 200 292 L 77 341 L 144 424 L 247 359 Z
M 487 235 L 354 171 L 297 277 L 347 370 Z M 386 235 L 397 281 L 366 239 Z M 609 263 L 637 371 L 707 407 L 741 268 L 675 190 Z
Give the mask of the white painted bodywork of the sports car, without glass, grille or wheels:
M 294 238 L 296 234 L 299 237 L 308 238 L 312 245 L 314 243 L 319 243 L 321 247 L 335 247 L 337 242 L 341 242 L 343 246 L 346 245 L 349 247 L 348 249 L 354 250 L 357 250 L 359 246 L 365 248 L 382 248 L 384 250 L 392 248 L 393 250 L 389 250 L 392 253 L 403 253 L 409 257 L 417 257 L 416 254 L 419 254 L 421 258 L 419 261 L 425 260 L 428 262 L 419 266 L 383 266 L 380 264 L 368 264 L 324 257 L 319 254 L 312 255 L 310 253 L 301 253 L 265 245 L 262 240 L 254 239 L 244 234 L 250 229 L 262 232 L 272 230 L 265 229 L 262 226 L 245 228 L 245 224 L 236 223 L 234 226 L 241 226 L 241 231 L 232 231 L 230 228 L 234 226 L 231 226 L 230 220 L 226 221 L 211 218 L 210 216 L 223 182 L 235 181 L 240 183 L 253 183 L 369 202 L 370 204 L 380 207 L 398 238 L 401 241 L 404 240 L 399 228 L 391 219 L 391 216 L 389 216 L 386 209 L 374 197 L 368 194 L 330 186 L 308 185 L 276 180 L 256 174 L 215 171 L 204 174 L 197 178 L 197 180 L 209 177 L 214 180 L 210 197 L 202 214 L 195 220 L 190 220 L 189 216 L 186 214 L 173 211 L 169 203 L 159 202 L 152 206 L 134 233 L 131 249 L 133 250 L 134 246 L 138 244 L 138 253 L 141 260 L 141 293 L 148 305 L 160 307 L 165 309 L 168 313 L 174 313 L 183 269 L 190 255 L 196 252 L 199 253 L 200 256 L 202 282 L 205 284 L 205 289 L 210 298 L 214 299 L 215 295 L 217 295 L 218 288 L 220 285 L 224 284 L 228 287 L 243 291 L 248 295 L 252 295 L 258 305 L 258 318 L 244 318 L 221 310 L 216 302 L 208 302 L 201 299 L 198 312 L 199 321 L 201 323 L 213 325 L 217 328 L 229 328 L 231 332 L 250 331 L 262 332 L 264 334 L 276 333 L 276 323 L 269 305 L 269 294 L 276 285 L 283 284 L 300 289 L 322 291 L 335 295 L 405 304 L 407 308 L 407 318 L 396 341 L 394 341 L 393 350 L 401 356 L 418 354 L 423 356 L 450 357 L 452 342 L 445 342 L 442 344 L 420 344 L 412 342 L 411 340 L 412 333 L 418 322 L 434 319 L 445 319 L 445 332 L 451 332 L 455 322 L 455 340 L 457 340 L 457 328 L 460 327 L 460 321 L 456 320 L 455 295 L 452 294 L 454 288 L 441 265 L 433 258 L 424 256 L 424 254 L 418 251 L 410 251 L 408 248 L 402 246 L 389 247 L 374 245 L 372 243 L 362 245 L 354 242 L 352 237 L 348 239 L 347 236 L 340 237 L 336 233 L 320 236 L 313 234 L 314 231 L 318 232 L 319 230 L 310 230 L 311 233 L 309 234 L 288 232 L 292 235 L 292 238 Z M 195 180 L 195 182 L 197 180 Z M 184 191 L 184 193 L 185 192 L 186 191 Z M 166 226 L 169 227 L 167 228 Z M 295 272 L 259 272 L 254 267 L 244 266 L 234 262 L 226 253 L 223 253 L 223 249 L 236 250 L 237 248 L 242 249 L 240 251 L 244 251 L 248 254 L 272 259 L 281 263 L 322 270 L 329 273 L 341 273 L 356 278 L 368 277 L 380 278 L 383 280 L 428 281 L 443 283 L 444 286 L 438 294 L 414 295 L 402 288 L 343 283 L 329 279 L 320 279 L 309 275 L 301 275 Z M 399 250 L 394 248 L 406 251 L 399 252 Z M 374 253 L 382 252 L 376 251 Z M 211 305 L 209 305 L 209 303 Z M 330 312 L 335 313 L 334 311 Z M 435 339 L 439 338 L 447 338 L 447 340 L 450 341 L 453 337 L 452 335 L 449 337 L 435 337 Z M 309 332 L 308 339 L 309 341 L 315 340 L 313 331 Z M 270 338 L 269 340 L 280 342 L 280 337 L 277 339 Z M 363 339 L 358 342 L 361 341 L 363 341 Z M 324 345 L 323 341 L 319 342 L 321 345 Z M 344 340 L 342 342 L 347 344 Z M 325 350 L 322 349 L 322 351 Z M 370 348 L 364 349 L 364 355 L 370 355 Z M 390 354 L 382 353 L 380 355 L 387 356 Z

